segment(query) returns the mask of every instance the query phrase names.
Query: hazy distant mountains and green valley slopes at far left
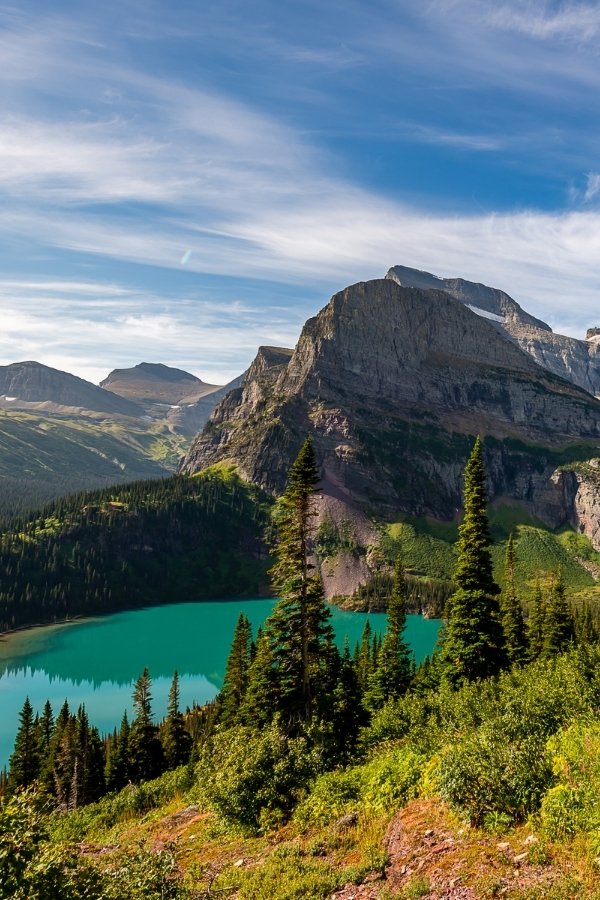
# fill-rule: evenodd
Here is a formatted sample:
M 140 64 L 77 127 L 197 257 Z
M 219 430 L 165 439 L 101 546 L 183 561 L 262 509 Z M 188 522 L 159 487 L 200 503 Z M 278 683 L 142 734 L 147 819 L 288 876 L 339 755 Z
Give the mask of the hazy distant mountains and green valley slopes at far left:
M 228 390 L 153 363 L 100 387 L 38 362 L 1 366 L 0 512 L 173 472 Z

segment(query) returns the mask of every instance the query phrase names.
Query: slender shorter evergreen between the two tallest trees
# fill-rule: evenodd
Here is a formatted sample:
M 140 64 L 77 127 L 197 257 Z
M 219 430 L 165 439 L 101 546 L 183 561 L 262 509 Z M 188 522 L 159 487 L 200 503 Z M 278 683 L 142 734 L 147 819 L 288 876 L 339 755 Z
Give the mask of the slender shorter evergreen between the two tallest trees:
M 364 703 L 380 709 L 386 700 L 397 699 L 408 690 L 412 677 L 412 654 L 404 640 L 406 627 L 406 581 L 401 554 L 394 568 L 388 602 L 387 628 L 377 657 L 377 667 L 369 679 Z

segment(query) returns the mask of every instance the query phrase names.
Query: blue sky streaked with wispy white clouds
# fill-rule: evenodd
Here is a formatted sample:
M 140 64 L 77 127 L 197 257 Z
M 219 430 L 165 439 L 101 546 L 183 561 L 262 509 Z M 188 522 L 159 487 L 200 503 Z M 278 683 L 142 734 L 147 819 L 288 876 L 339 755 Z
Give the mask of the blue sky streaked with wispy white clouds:
M 212 383 L 393 265 L 600 325 L 600 3 L 0 0 L 0 364 Z

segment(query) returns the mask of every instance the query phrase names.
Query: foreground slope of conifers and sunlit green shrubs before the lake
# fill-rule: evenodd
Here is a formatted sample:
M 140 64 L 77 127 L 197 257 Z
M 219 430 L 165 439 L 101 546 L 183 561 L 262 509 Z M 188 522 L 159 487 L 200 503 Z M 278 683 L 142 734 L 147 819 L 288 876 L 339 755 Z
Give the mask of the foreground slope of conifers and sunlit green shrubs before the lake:
M 135 685 L 132 722 L 124 718 L 102 740 L 83 708 L 73 713 L 65 705 L 55 717 L 48 705 L 35 714 L 26 701 L 0 808 L 0 867 L 13 891 L 4 896 L 117 896 L 110 867 L 73 855 L 65 840 L 81 840 L 180 794 L 241 835 L 269 834 L 285 823 L 301 834 L 340 817 L 352 828 L 361 817 L 389 820 L 412 797 L 435 796 L 473 829 L 502 832 L 535 820 L 545 843 L 538 847 L 536 837 L 521 859 L 530 853 L 536 865 L 547 865 L 549 842 L 577 836 L 593 865 L 600 812 L 594 762 L 600 750 L 599 635 L 591 616 L 574 616 L 560 573 L 549 587 L 536 587 L 524 619 L 512 541 L 503 590 L 495 583 L 479 440 L 465 472 L 445 628 L 418 669 L 404 641 L 400 554 L 383 638 L 373 640 L 367 629 L 354 650 L 335 647 L 321 579 L 310 561 L 316 482 L 307 440 L 277 505 L 271 577 L 280 599 L 257 635 L 240 617 L 214 703 L 182 713 L 175 674 L 167 717 L 156 725 L 145 671 Z M 41 816 L 40 802 L 56 810 L 53 817 Z M 18 852 L 13 838 L 7 841 L 10 828 L 20 828 Z M 329 840 L 329 850 L 313 856 L 335 850 L 335 829 Z M 41 891 L 35 847 L 54 860 L 52 877 L 62 894 Z M 288 857 L 277 857 L 276 880 L 269 881 L 275 873 L 269 875 L 266 864 L 247 872 L 224 866 L 218 877 L 212 870 L 179 870 L 165 849 L 145 857 L 145 888 L 133 863 L 120 868 L 126 875 L 118 896 L 218 892 L 283 900 L 330 896 L 344 878 L 360 881 L 367 871 L 385 879 L 385 855 L 371 853 L 362 875 L 318 862 L 307 870 L 300 857 Z M 574 883 L 563 882 L 552 896 L 595 896 L 583 892 L 583 881 Z

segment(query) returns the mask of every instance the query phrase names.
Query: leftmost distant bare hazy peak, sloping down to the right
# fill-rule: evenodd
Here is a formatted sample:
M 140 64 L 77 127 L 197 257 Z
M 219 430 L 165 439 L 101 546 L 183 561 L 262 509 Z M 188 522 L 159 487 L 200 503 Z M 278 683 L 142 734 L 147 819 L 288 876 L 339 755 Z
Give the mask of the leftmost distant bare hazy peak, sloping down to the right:
M 144 415 L 143 408 L 132 400 L 69 372 L 32 361 L 0 366 L 0 408 L 68 413 L 78 410 L 134 418 Z

